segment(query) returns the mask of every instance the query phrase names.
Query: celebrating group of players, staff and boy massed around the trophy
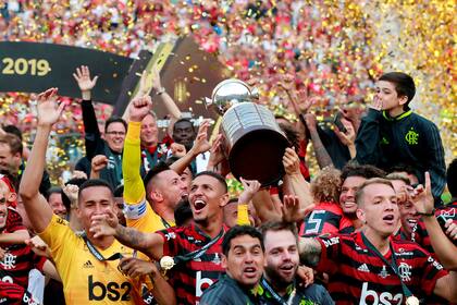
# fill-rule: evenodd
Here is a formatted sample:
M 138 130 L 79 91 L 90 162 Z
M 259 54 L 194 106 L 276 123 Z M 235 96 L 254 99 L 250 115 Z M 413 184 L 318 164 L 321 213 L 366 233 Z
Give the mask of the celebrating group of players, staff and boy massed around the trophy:
M 457 162 L 446 175 L 439 130 L 408 106 L 408 74 L 383 74 L 369 107 L 351 100 L 333 129 L 317 124 L 312 99 L 298 122 L 276 117 L 291 143 L 285 175 L 268 187 L 240 178 L 231 198 L 223 134 L 210 143 L 208 121 L 181 118 L 152 73 L 173 122 L 164 138 L 146 72 L 124 117 L 104 126 L 97 76 L 74 72 L 86 156 L 60 187 L 46 171 L 66 107 L 58 88 L 37 96 L 32 150 L 3 126 L 0 304 L 456 302 L 457 206 L 441 195 L 447 182 L 456 196 Z M 308 143 L 321 168 L 311 181 Z

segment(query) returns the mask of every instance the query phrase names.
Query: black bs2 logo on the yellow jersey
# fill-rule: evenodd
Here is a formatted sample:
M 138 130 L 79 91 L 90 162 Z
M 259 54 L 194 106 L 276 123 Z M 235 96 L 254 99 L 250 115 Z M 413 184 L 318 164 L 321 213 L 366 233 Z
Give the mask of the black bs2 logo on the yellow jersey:
M 123 282 L 108 282 L 104 285 L 101 282 L 94 282 L 92 276 L 89 276 L 89 301 L 102 301 L 108 297 L 110 301 L 129 301 L 132 284 Z

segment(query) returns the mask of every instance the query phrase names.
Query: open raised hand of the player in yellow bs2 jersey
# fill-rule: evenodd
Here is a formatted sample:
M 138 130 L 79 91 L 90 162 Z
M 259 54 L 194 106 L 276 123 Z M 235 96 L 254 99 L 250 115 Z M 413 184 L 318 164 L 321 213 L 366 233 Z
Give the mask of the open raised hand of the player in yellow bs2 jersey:
M 40 93 L 37 98 L 38 125 L 51 126 L 62 115 L 65 103 L 58 103 L 58 88 Z

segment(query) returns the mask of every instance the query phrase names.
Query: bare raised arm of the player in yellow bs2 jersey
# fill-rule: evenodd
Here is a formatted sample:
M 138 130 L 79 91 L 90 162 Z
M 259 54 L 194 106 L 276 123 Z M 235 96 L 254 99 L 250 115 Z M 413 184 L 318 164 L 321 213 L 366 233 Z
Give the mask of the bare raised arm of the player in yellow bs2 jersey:
M 38 95 L 37 134 L 20 185 L 25 210 L 36 232 L 42 232 L 52 218 L 51 207 L 38 192 L 38 186 L 45 168 L 49 134 L 65 106 L 64 103 L 58 105 L 57 91 L 57 88 L 50 88 Z

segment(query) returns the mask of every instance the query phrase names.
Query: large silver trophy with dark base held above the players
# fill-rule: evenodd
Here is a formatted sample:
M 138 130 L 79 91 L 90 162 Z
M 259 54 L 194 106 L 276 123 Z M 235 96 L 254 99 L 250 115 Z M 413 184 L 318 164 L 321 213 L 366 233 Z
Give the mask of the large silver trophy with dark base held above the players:
M 289 144 L 273 113 L 255 103 L 256 99 L 256 89 L 230 78 L 219 83 L 212 97 L 205 100 L 207 108 L 223 115 L 224 152 L 232 174 L 267 186 L 284 175 L 282 158 Z

